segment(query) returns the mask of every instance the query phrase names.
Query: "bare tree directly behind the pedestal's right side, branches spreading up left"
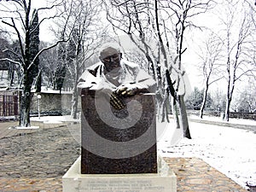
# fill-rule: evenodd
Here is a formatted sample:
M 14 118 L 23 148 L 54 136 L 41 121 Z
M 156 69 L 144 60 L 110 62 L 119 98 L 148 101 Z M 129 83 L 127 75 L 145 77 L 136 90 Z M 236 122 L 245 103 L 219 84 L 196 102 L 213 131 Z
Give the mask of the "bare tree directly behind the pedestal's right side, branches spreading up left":
M 156 92 L 158 113 L 162 114 L 162 120 L 167 117 L 166 102 L 168 100 L 166 87 L 164 86 L 166 79 L 163 67 L 167 68 L 167 59 L 160 58 L 162 55 L 159 44 L 159 36 L 157 36 L 155 26 L 159 26 L 159 21 L 155 20 L 154 1 L 113 1 L 108 3 L 105 1 L 108 20 L 114 29 L 125 32 L 140 51 L 147 61 L 148 73 L 151 73 L 157 81 L 158 90 Z M 166 48 L 163 47 L 164 54 Z M 168 58 L 171 60 L 171 58 Z M 164 104 L 165 103 L 165 104 Z M 168 118 L 166 118 L 168 120 Z

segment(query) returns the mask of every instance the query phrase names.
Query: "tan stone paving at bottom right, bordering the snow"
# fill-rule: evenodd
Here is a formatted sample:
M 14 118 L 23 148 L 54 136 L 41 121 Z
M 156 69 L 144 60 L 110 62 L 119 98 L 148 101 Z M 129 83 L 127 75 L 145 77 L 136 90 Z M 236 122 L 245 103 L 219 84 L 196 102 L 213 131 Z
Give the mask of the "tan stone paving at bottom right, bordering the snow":
M 177 191 L 245 192 L 246 189 L 198 158 L 165 158 L 177 175 Z M 193 166 L 189 166 L 193 165 Z

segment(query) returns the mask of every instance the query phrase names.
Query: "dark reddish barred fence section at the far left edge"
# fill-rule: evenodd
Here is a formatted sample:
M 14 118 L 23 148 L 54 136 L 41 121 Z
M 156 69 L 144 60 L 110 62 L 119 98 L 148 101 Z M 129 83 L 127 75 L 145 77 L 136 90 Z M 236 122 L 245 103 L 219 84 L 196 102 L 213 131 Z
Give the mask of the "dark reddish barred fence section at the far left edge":
M 0 116 L 18 115 L 18 95 L 16 92 L 0 92 Z

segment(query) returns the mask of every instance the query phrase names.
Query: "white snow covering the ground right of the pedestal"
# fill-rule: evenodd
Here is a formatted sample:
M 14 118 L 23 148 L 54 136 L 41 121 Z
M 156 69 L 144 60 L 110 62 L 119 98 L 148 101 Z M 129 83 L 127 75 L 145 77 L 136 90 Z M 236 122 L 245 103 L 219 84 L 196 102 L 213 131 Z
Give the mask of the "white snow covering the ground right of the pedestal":
M 234 123 L 236 119 L 230 121 Z M 239 119 L 238 122 L 242 125 L 256 125 L 253 120 Z M 171 122 L 158 143 L 162 156 L 198 157 L 245 189 L 247 183 L 256 185 L 256 134 L 253 131 L 189 122 L 192 139 L 183 138 L 179 143 L 171 145 L 173 125 Z

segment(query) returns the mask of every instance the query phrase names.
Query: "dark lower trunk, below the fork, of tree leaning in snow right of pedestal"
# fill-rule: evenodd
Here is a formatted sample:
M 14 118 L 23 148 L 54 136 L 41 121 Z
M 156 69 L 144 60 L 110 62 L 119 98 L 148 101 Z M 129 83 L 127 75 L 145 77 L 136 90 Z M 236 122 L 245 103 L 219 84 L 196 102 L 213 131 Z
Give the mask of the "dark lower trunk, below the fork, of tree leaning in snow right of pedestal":
M 189 119 L 186 111 L 186 106 L 184 102 L 184 96 L 177 96 L 178 98 L 178 106 L 180 108 L 180 116 L 181 116 L 181 125 L 183 128 L 183 136 L 191 139 L 190 131 L 189 131 Z

